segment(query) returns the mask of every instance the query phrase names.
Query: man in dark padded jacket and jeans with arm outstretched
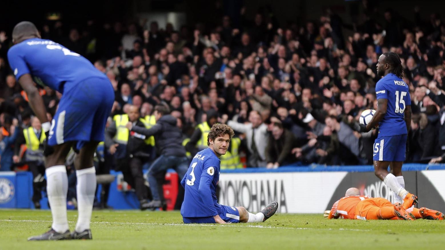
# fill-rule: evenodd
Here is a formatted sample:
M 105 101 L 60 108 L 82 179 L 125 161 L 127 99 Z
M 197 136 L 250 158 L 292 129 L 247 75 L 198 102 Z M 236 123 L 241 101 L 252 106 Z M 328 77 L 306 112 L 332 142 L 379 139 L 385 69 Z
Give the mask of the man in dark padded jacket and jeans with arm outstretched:
M 176 126 L 177 119 L 170 115 L 170 110 L 164 105 L 154 107 L 153 113 L 156 125 L 150 129 L 143 126 L 133 126 L 127 123 L 127 128 L 131 132 L 136 132 L 145 136 L 154 136 L 156 151 L 160 155 L 148 170 L 148 183 L 153 195 L 153 200 L 146 204 L 146 208 L 156 209 L 162 206 L 162 182 L 165 172 L 173 168 L 180 179 L 186 174 L 188 169 L 188 159 L 186 149 L 182 146 L 182 133 Z

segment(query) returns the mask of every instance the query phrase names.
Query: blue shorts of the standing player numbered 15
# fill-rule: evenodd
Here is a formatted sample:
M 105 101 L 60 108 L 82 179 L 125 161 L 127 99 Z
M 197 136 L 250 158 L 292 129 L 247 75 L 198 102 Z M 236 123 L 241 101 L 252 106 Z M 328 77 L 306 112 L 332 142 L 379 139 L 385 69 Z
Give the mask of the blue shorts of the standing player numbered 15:
M 405 161 L 406 138 L 407 134 L 378 137 L 374 142 L 373 160 L 388 162 Z

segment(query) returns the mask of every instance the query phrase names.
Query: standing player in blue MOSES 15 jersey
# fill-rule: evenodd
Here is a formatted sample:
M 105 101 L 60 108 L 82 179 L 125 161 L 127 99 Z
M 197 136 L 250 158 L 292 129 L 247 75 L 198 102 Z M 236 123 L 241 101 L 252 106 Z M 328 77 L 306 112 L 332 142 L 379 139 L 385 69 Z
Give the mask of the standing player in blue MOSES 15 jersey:
M 411 125 L 411 98 L 403 81 L 403 67 L 399 55 L 386 52 L 379 57 L 377 74 L 383 76 L 376 83 L 377 111 L 361 132 L 379 126 L 374 143 L 374 171 L 394 192 L 394 203 L 402 202 L 408 209 L 417 203 L 417 196 L 405 190 L 402 164 L 405 160 L 406 138 Z M 388 172 L 388 166 L 391 173 Z

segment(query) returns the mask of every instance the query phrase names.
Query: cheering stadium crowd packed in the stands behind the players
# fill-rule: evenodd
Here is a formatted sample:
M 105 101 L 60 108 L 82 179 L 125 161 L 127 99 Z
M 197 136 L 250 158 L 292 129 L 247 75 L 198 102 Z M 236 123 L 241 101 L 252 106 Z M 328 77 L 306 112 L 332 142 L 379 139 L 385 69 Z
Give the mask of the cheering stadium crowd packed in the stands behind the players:
M 396 52 L 412 99 L 406 162 L 442 160 L 445 24 L 440 15 L 423 20 L 416 7 L 413 20 L 405 20 L 391 10 L 365 9 L 364 21 L 349 25 L 328 10 L 319 20 L 279 27 L 274 13 L 259 12 L 250 20 L 244 12 L 236 25 L 218 14 L 216 24 L 193 28 L 144 20 L 88 21 L 70 29 L 54 21 L 39 28 L 43 39 L 85 56 L 107 75 L 115 90 L 109 124 L 125 127 L 116 115 L 128 114 L 133 105 L 144 124 L 153 126 L 154 107 L 164 105 L 177 119 L 183 135 L 177 139 L 189 156 L 206 147 L 202 137 L 214 122 L 233 127 L 236 139 L 223 168 L 372 164 L 378 128 L 360 133 L 358 118 L 364 109 L 376 109 L 380 54 Z M 352 35 L 344 36 L 344 29 Z M 21 144 L 31 140 L 23 136 L 28 127 L 37 138 L 41 133 L 8 67 L 10 46 L 10 34 L 0 32 L 0 171 L 24 163 Z M 40 94 L 52 117 L 61 94 L 47 87 Z M 109 166 L 115 165 L 114 143 L 105 142 L 103 151 Z

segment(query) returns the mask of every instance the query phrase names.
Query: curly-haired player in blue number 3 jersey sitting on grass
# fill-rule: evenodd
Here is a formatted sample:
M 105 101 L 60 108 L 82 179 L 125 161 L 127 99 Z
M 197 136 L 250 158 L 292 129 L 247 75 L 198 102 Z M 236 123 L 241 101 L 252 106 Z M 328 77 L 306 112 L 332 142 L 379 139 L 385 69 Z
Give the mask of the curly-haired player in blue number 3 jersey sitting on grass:
M 216 185 L 219 181 L 219 157 L 225 155 L 234 132 L 226 124 L 214 124 L 207 135 L 208 148 L 199 151 L 182 178 L 184 202 L 181 215 L 184 223 L 263 222 L 275 214 L 278 202 L 267 205 L 258 214 L 243 206 L 219 205 Z

